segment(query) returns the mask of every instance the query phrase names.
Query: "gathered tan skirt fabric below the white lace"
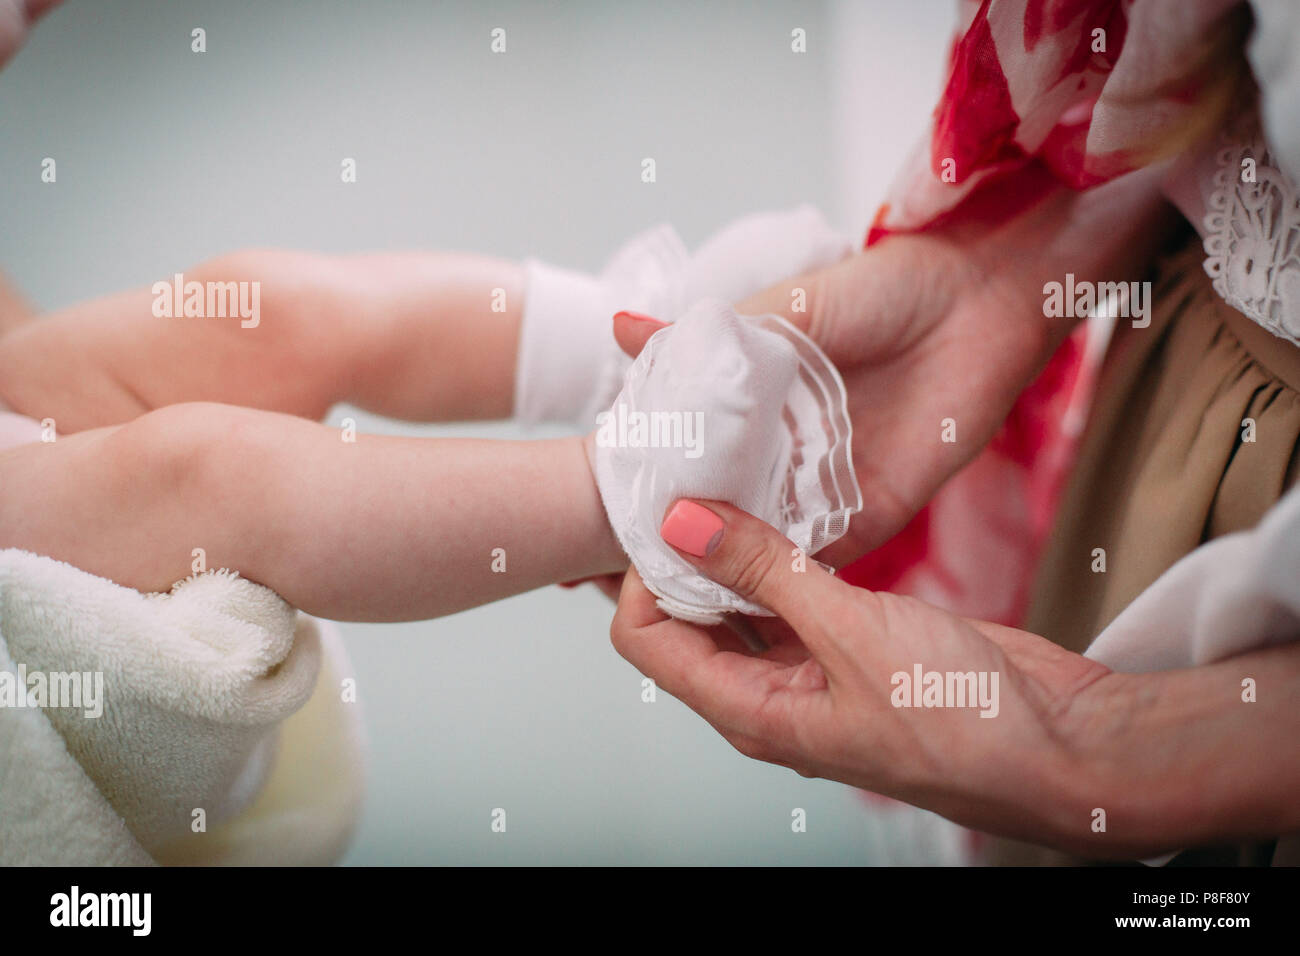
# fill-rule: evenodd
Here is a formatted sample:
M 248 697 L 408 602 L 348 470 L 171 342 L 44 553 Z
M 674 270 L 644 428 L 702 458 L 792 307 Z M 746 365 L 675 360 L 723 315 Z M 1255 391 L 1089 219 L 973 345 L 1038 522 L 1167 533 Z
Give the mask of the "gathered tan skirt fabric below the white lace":
M 1300 349 L 1225 304 L 1190 237 L 1153 280 L 1145 329 L 1121 320 L 1026 628 L 1083 652 L 1174 562 L 1254 527 L 1300 471 Z M 1243 441 L 1253 421 L 1254 441 Z M 1093 549 L 1105 572 L 1093 571 Z M 1268 862 L 1269 847 L 1176 862 Z M 991 861 L 1076 862 L 996 840 Z

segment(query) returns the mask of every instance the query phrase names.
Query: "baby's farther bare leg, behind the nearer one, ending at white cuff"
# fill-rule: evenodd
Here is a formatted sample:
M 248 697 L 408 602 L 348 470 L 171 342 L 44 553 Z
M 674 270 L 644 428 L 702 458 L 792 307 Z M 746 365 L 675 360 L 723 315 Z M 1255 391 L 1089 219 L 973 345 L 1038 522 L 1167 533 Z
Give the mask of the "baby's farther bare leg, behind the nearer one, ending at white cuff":
M 506 418 L 523 285 L 521 267 L 484 256 L 247 250 L 4 334 L 0 399 L 61 433 L 196 401 Z M 187 290 L 203 315 L 186 315 Z

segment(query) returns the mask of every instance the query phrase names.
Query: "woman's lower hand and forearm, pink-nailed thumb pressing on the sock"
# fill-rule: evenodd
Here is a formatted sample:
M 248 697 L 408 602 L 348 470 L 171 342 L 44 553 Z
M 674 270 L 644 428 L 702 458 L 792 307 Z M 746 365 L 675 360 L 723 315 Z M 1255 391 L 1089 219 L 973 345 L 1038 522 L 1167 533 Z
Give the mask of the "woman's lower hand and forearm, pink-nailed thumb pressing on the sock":
M 1243 667 L 1300 688 L 1300 648 L 1114 674 L 1024 631 L 854 588 L 725 503 L 679 502 L 662 533 L 779 615 L 749 619 L 770 649 L 668 618 L 634 570 L 614 645 L 746 756 L 1089 856 L 1300 827 L 1288 790 L 1300 717 L 1286 692 L 1251 706 L 1232 692 Z M 940 675 L 937 697 L 928 678 L 914 685 L 918 672 Z M 942 689 L 958 684 L 965 700 Z M 1232 744 L 1242 739 L 1269 757 Z

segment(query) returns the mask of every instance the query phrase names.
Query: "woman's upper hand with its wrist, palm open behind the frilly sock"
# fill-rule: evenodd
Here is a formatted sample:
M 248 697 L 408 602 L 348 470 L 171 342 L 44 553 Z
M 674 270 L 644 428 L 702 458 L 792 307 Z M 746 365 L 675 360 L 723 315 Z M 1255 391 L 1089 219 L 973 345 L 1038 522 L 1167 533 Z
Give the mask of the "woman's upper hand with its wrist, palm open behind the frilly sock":
M 737 303 L 786 317 L 844 376 L 864 503 L 823 561 L 888 541 L 993 437 L 1076 323 L 1044 315 L 1045 282 L 1139 280 L 1176 221 L 1147 176 L 1088 193 L 1031 178 L 970 200 L 961 221 L 890 235 Z M 616 316 L 624 351 L 638 354 L 658 319 Z

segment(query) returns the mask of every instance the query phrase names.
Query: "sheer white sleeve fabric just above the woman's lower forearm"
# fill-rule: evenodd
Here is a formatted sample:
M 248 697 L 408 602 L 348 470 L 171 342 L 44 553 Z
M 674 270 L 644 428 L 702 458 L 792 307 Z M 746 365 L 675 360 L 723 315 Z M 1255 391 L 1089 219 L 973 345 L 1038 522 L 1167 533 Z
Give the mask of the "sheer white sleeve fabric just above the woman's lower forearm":
M 1214 538 L 1175 563 L 1084 656 L 1115 671 L 1148 674 L 1294 640 L 1300 640 L 1300 486 L 1257 527 Z M 1175 856 L 1143 862 L 1162 866 Z M 1274 858 L 1300 858 L 1300 839 L 1279 840 Z

